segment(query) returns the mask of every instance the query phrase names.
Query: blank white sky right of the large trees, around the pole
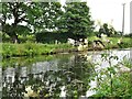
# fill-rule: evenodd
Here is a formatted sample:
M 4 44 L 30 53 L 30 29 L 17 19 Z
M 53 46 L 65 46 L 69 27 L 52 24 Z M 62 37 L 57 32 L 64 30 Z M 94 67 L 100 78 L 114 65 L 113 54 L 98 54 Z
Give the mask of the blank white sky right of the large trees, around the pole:
M 90 8 L 92 20 L 101 23 L 112 24 L 117 31 L 122 31 L 123 6 L 124 13 L 124 33 L 130 33 L 130 2 L 132 0 L 84 0 Z M 61 0 L 62 3 L 65 0 Z

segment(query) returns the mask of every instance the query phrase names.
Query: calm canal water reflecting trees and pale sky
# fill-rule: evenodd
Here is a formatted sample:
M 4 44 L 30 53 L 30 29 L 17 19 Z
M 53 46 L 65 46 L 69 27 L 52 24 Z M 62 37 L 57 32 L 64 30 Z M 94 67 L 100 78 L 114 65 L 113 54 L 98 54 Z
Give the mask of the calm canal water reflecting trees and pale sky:
M 0 97 L 90 97 L 96 94 L 95 73 L 110 66 L 102 56 L 118 56 L 111 65 L 130 58 L 130 50 L 63 53 L 2 61 Z

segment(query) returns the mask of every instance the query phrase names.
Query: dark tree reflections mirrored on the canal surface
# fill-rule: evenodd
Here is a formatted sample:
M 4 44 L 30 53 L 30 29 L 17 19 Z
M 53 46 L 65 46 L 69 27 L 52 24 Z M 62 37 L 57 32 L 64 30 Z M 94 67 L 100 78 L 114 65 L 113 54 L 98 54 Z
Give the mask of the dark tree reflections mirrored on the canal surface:
M 7 67 L 3 69 L 3 97 L 28 96 L 28 87 L 33 90 L 30 97 L 57 98 L 62 87 L 65 87 L 66 97 L 79 97 L 88 89 L 92 74 L 90 65 L 82 55 L 75 54 L 30 66 Z

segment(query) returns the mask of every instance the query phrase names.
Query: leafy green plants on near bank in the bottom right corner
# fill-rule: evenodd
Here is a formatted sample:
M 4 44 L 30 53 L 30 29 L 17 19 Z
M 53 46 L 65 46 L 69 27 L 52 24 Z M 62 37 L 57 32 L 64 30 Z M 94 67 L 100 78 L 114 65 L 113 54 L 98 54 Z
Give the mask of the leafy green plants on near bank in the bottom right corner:
M 119 62 L 119 57 L 111 54 L 101 54 L 101 61 L 107 62 L 108 66 L 95 72 L 97 78 L 97 87 L 95 88 L 95 97 L 130 97 L 132 96 L 132 63 L 124 59 Z M 119 63 L 113 65 L 113 61 Z M 97 65 L 97 64 L 96 64 Z M 123 66 L 121 66 L 123 65 Z M 98 64 L 101 66 L 101 64 Z M 127 72 L 120 72 L 120 69 L 128 68 Z

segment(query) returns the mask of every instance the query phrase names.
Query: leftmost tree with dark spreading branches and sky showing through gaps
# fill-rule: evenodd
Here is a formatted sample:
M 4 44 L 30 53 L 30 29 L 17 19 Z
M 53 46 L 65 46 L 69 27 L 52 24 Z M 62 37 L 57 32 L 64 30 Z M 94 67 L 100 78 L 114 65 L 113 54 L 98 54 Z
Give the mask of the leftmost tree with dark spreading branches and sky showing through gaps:
M 31 24 L 38 16 L 38 9 L 34 9 L 34 3 L 30 2 L 3 2 L 2 3 L 2 32 L 7 33 L 18 43 L 18 35 L 31 32 Z M 8 21 L 12 20 L 12 23 Z M 23 24 L 25 22 L 25 24 Z

